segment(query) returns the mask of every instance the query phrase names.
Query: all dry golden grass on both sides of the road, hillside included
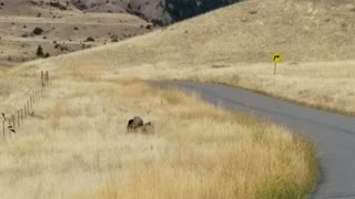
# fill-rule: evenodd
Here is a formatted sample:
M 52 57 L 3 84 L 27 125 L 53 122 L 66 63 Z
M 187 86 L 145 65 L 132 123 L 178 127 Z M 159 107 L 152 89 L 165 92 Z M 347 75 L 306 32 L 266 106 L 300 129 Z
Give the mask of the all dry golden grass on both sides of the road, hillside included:
M 41 70 L 53 75 L 34 117 L 0 147 L 0 195 L 302 198 L 316 176 L 307 140 L 141 82 L 220 82 L 355 113 L 351 1 L 277 2 L 245 1 L 114 45 L 0 72 L 7 112 L 23 103 Z M 276 76 L 266 63 L 274 51 L 284 55 Z M 135 115 L 152 121 L 156 134 L 126 135 Z

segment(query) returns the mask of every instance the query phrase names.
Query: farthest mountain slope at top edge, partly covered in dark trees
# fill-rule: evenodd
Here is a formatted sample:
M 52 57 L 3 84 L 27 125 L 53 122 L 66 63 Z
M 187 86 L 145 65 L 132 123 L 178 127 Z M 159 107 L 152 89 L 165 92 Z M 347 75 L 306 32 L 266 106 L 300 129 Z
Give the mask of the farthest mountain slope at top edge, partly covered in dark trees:
M 82 11 L 128 12 L 155 25 L 166 25 L 241 0 L 71 0 Z

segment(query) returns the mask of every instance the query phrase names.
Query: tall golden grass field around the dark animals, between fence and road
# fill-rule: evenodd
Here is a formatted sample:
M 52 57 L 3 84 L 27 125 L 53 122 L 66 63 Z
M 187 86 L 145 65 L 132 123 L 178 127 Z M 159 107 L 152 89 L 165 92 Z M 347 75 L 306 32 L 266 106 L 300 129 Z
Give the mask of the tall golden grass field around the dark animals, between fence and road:
M 38 85 L 31 69 L 14 74 L 24 91 Z M 315 182 L 310 143 L 287 129 L 139 78 L 52 74 L 34 116 L 0 145 L 3 198 L 300 198 Z M 20 93 L 0 94 L 1 107 Z M 155 135 L 126 134 L 135 115 Z

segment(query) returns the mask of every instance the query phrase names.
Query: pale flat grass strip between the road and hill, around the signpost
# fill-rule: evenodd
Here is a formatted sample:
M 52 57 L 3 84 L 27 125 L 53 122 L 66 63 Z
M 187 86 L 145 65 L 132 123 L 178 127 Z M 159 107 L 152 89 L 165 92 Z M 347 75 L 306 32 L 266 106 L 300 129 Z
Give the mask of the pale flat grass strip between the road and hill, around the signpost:
M 312 107 L 355 115 L 355 61 L 282 63 L 276 76 L 272 64 L 219 69 L 192 76 L 252 90 Z

